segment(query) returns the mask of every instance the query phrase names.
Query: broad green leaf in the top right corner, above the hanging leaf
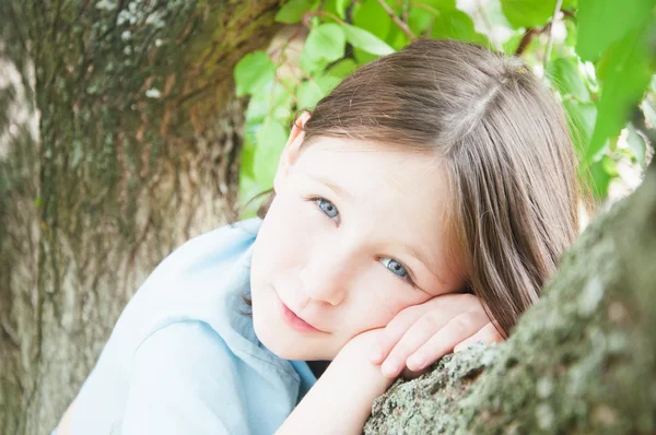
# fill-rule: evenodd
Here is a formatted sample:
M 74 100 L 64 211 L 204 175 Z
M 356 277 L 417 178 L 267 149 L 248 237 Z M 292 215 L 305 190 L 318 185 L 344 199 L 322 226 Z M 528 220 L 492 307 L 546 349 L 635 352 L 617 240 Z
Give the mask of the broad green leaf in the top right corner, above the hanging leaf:
M 654 0 L 581 0 L 576 17 L 576 52 L 583 60 L 597 60 L 613 43 L 653 15 Z

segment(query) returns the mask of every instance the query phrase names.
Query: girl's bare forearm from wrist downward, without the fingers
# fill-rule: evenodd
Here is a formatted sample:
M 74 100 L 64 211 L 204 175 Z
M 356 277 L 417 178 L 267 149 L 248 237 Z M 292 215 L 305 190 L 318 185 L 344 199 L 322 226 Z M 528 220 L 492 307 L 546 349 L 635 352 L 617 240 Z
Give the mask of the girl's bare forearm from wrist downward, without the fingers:
M 367 357 L 380 333 L 374 329 L 349 341 L 276 434 L 361 434 L 374 399 L 394 381 Z

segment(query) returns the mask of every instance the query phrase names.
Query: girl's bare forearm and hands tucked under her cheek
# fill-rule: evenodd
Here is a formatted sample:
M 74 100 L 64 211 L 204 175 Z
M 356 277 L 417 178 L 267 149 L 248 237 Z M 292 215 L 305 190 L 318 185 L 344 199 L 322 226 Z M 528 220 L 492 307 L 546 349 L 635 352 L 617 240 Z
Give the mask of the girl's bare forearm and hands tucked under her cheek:
M 423 363 L 410 364 L 412 371 L 403 375 L 417 377 L 454 348 L 479 340 L 502 338 L 472 295 L 447 294 L 408 307 L 387 327 L 349 341 L 277 434 L 361 434 L 374 399 L 389 388 L 410 355 L 418 352 Z

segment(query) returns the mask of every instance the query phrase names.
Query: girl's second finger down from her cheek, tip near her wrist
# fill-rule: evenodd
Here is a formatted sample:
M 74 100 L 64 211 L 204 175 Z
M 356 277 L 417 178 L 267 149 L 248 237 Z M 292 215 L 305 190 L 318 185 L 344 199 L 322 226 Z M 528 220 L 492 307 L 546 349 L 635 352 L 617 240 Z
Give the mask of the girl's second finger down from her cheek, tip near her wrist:
M 387 377 L 396 377 L 406 367 L 406 360 L 414 351 L 421 348 L 440 329 L 448 322 L 448 318 L 438 311 L 423 315 L 414 322 L 399 339 L 385 362 L 380 366 L 383 374 Z M 409 367 L 412 369 L 413 367 Z

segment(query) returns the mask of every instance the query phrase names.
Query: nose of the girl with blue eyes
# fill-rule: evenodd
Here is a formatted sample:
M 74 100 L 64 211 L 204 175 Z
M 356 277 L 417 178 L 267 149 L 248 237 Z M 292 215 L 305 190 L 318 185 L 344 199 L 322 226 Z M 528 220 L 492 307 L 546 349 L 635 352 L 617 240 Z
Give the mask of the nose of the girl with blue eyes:
M 355 271 L 353 249 L 315 249 L 300 278 L 305 293 L 317 302 L 340 304 L 349 292 L 350 279 Z

